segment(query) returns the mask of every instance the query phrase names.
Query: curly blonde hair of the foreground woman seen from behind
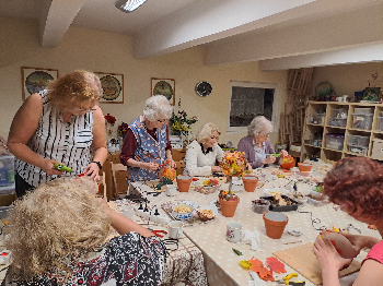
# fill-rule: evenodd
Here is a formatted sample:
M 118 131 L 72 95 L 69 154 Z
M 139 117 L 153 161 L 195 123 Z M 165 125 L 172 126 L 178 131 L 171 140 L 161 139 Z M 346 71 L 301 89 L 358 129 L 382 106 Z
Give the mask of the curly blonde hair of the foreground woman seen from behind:
M 12 251 L 11 274 L 31 281 L 43 273 L 70 276 L 70 263 L 96 250 L 111 226 L 95 184 L 88 178 L 56 179 L 15 203 L 5 247 Z

